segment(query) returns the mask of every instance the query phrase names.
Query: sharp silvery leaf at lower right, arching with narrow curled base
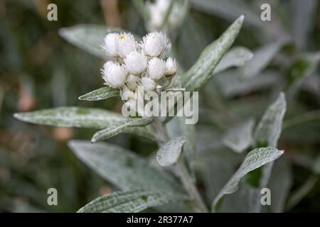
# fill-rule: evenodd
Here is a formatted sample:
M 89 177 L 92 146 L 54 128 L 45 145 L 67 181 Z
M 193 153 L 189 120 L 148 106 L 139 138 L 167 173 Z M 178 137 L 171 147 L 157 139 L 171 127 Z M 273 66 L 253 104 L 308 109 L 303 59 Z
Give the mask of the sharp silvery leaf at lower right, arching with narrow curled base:
M 262 165 L 267 164 L 268 162 L 272 162 L 276 160 L 283 154 L 282 150 L 277 150 L 276 148 L 256 148 L 255 150 L 250 151 L 245 156 L 245 160 L 243 160 L 239 169 L 235 172 L 233 177 L 228 181 L 227 184 L 221 189 L 219 194 L 215 197 L 212 205 L 212 210 L 217 211 L 218 206 L 220 205 L 221 199 L 225 194 L 233 194 L 238 190 L 238 184 L 240 179 L 247 175 L 247 173 L 255 170 Z

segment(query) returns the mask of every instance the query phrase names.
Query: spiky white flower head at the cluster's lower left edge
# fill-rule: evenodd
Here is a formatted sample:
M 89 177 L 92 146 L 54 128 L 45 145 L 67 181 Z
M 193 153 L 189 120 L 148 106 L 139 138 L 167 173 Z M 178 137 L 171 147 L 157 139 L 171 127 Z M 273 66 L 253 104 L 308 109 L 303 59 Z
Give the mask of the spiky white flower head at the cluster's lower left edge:
M 126 81 L 127 71 L 119 63 L 108 61 L 103 65 L 102 78 L 110 87 L 122 87 Z

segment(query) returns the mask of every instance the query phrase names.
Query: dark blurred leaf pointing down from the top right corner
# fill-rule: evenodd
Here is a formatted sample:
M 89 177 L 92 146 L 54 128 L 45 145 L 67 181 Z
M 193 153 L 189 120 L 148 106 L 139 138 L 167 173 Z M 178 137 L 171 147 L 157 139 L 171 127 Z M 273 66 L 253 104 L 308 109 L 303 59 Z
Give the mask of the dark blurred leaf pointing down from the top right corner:
M 292 9 L 292 38 L 299 48 L 305 48 L 307 38 L 314 25 L 315 13 L 318 1 L 308 0 L 292 0 L 290 1 Z

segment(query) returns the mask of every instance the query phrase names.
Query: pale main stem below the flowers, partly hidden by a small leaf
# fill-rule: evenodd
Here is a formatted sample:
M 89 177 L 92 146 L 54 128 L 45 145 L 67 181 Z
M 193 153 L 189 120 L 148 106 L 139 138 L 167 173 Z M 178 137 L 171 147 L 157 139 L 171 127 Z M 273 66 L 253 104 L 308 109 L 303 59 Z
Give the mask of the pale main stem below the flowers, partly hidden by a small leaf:
M 164 145 L 169 142 L 169 135 L 166 131 L 166 128 L 164 128 L 163 124 L 160 121 L 156 121 L 156 131 L 159 136 L 159 145 Z M 201 195 L 196 188 L 196 185 L 193 183 L 193 179 L 189 174 L 186 165 L 183 162 L 183 159 L 180 158 L 178 162 L 176 162 L 176 169 L 178 170 L 178 175 L 181 179 L 183 187 L 186 189 L 186 192 L 188 192 L 190 196 L 193 209 L 196 212 L 208 213 L 209 211 L 204 204 Z

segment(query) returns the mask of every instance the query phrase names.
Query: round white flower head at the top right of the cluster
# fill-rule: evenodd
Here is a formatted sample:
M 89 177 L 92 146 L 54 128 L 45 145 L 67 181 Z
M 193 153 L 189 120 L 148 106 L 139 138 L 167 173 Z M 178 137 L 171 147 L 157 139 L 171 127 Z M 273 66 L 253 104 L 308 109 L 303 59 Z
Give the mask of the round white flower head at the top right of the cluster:
M 149 33 L 143 38 L 142 48 L 144 53 L 151 57 L 158 57 L 170 47 L 166 35 L 161 32 Z

